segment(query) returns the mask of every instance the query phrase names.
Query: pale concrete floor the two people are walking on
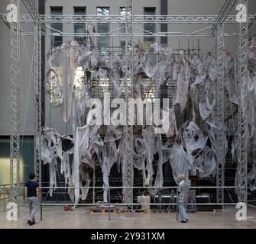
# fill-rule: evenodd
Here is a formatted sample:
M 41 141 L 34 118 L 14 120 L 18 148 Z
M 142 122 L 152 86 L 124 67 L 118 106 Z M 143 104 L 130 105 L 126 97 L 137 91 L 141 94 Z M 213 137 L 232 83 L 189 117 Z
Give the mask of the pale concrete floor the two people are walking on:
M 189 221 L 180 223 L 176 220 L 176 213 L 134 213 L 128 217 L 125 213 L 111 213 L 111 220 L 108 220 L 108 213 L 89 213 L 85 207 L 76 208 L 70 212 L 64 212 L 61 206 L 44 206 L 43 221 L 40 219 L 40 211 L 37 210 L 34 226 L 27 226 L 28 209 L 21 207 L 20 217 L 17 221 L 8 221 L 7 212 L 0 213 L 0 228 L 88 228 L 88 229 L 177 229 L 177 228 L 256 228 L 256 210 L 248 210 L 247 221 L 235 219 L 235 209 L 227 209 L 216 212 L 189 213 Z

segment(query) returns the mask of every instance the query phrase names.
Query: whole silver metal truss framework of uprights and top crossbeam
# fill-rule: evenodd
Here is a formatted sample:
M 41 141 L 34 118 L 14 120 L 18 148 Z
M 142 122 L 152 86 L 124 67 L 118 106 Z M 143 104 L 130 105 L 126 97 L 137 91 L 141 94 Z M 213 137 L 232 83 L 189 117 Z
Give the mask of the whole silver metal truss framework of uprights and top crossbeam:
M 18 20 L 11 21 L 11 160 L 10 177 L 11 186 L 19 183 L 20 147 L 19 147 L 19 60 L 20 60 L 20 23 L 34 23 L 34 170 L 37 180 L 41 182 L 41 36 L 45 34 L 42 24 L 48 23 L 125 23 L 125 100 L 133 97 L 133 37 L 134 24 L 164 23 L 164 24 L 214 24 L 212 32 L 217 38 L 217 61 L 219 66 L 217 97 L 217 115 L 219 123 L 224 123 L 224 36 L 223 24 L 237 24 L 236 16 L 227 15 L 225 11 L 217 15 L 180 15 L 180 16 L 144 16 L 133 15 L 132 0 L 126 1 L 126 14 L 97 16 L 97 15 L 40 15 L 35 7 L 28 5 L 29 1 L 22 1 L 28 7 L 30 14 L 19 14 L 19 0 L 11 0 L 16 5 Z M 232 5 L 234 1 L 227 1 Z M 248 6 L 247 0 L 239 0 L 240 4 Z M 226 11 L 231 8 L 225 5 Z M 219 18 L 222 16 L 222 18 Z M 1 15 L 5 19 L 6 16 Z M 245 21 L 238 23 L 238 86 L 239 86 L 239 109 L 238 109 L 238 201 L 247 203 L 247 63 L 248 63 L 248 22 L 253 21 L 255 16 L 246 16 Z M 215 29 L 216 28 L 216 29 Z M 42 32 L 42 29 L 44 30 Z M 216 32 L 215 32 L 216 30 Z M 161 33 L 161 35 L 165 35 Z M 168 35 L 168 34 L 167 34 Z M 182 36 L 182 34 L 180 34 Z M 209 34 L 210 36 L 211 34 Z M 128 102 L 127 102 L 128 104 Z M 128 113 L 128 109 L 127 109 Z M 127 116 L 128 117 L 128 116 Z M 225 145 L 223 131 L 219 132 L 219 151 L 223 157 L 218 159 L 217 166 L 217 201 L 223 203 L 224 191 L 224 164 Z M 133 203 L 133 127 L 125 126 L 125 170 L 123 172 L 124 203 L 132 210 Z M 12 188 L 11 200 L 18 203 L 18 188 Z

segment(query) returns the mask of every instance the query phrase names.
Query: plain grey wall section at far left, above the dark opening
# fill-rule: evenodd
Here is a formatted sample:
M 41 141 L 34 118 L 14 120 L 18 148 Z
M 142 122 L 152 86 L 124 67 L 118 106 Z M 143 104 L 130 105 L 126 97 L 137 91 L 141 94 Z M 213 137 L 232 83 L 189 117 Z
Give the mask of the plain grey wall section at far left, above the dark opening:
M 0 12 L 7 13 L 8 0 L 0 1 Z M 21 14 L 27 13 L 21 3 Z M 32 24 L 21 24 L 21 30 L 33 31 Z M 25 43 L 25 44 L 24 44 Z M 21 36 L 21 70 L 20 70 L 20 120 L 21 135 L 34 134 L 34 98 L 33 69 L 30 69 L 33 58 L 34 37 Z M 10 134 L 10 30 L 0 23 L 0 135 Z M 30 71 L 32 72 L 30 75 Z M 31 78 L 31 81 L 30 81 Z M 28 99 L 27 99 L 28 98 Z M 28 102 L 27 102 L 28 101 Z M 27 109 L 26 109 L 27 108 Z

